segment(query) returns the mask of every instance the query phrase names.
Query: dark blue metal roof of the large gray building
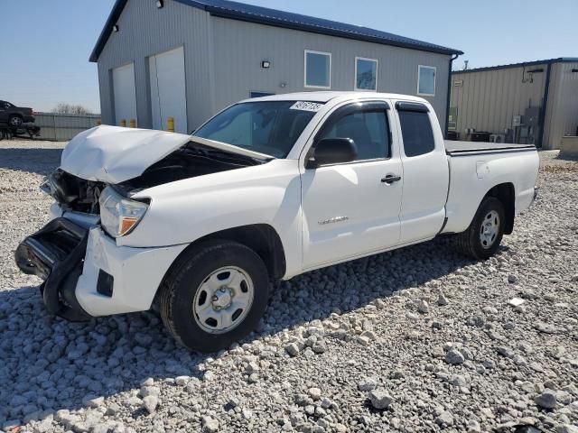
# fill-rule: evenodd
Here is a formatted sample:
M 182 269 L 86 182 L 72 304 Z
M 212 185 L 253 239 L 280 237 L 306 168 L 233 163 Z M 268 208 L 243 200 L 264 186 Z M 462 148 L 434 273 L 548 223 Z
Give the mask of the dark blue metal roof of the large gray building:
M 98 37 L 94 50 L 90 54 L 90 61 L 97 61 L 98 56 L 104 49 L 113 26 L 117 23 L 118 17 L 125 8 L 128 0 L 117 0 L 112 12 L 108 16 L 107 23 Z M 290 12 L 277 11 L 266 7 L 245 5 L 228 0 L 174 0 L 183 5 L 190 5 L 209 12 L 211 15 L 228 18 L 249 23 L 260 23 L 286 29 L 301 30 L 303 32 L 313 32 L 337 36 L 358 41 L 369 41 L 407 48 L 410 50 L 429 51 L 439 54 L 463 54 L 462 51 L 446 48 L 429 42 L 417 41 L 415 39 L 398 36 L 393 33 L 381 32 L 353 24 L 338 23 L 324 20 L 312 16 L 293 14 Z

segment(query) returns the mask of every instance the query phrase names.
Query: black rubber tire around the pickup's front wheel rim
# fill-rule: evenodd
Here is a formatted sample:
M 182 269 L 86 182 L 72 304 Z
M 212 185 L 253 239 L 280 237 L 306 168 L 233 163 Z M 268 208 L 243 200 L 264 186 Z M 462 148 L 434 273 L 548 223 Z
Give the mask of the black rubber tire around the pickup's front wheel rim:
M 200 326 L 193 315 L 193 303 L 198 291 L 201 291 L 201 296 L 206 291 L 201 289 L 201 284 L 207 282 L 214 272 L 228 266 L 245 272 L 252 282 L 254 296 L 247 313 L 238 315 L 238 318 L 241 315 L 245 317 L 235 327 L 214 334 Z M 217 274 L 219 277 L 220 274 Z M 236 242 L 214 240 L 185 251 L 172 265 L 160 290 L 161 318 L 172 336 L 191 350 L 212 353 L 227 348 L 256 328 L 266 310 L 269 278 L 265 263 L 253 250 Z M 206 299 L 208 295 L 205 293 L 204 296 Z

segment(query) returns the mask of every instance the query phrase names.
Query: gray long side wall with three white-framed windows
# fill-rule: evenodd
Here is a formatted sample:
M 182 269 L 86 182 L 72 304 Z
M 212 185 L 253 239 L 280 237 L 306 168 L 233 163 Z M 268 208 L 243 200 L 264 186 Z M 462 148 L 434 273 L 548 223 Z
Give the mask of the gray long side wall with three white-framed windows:
M 378 91 L 416 95 L 418 65 L 436 70 L 435 97 L 425 97 L 445 124 L 450 56 L 311 32 L 212 17 L 217 109 L 251 91 L 290 93 L 304 88 L 304 51 L 331 52 L 331 90 L 352 91 L 355 58 L 377 59 Z M 270 69 L 261 62 L 271 61 Z

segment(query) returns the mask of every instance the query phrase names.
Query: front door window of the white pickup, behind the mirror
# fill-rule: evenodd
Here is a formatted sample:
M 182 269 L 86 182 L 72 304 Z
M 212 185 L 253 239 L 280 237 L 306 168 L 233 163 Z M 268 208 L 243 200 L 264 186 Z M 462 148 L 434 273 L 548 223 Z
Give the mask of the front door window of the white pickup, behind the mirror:
M 343 115 L 322 130 L 323 138 L 350 138 L 358 148 L 356 161 L 389 158 L 389 127 L 386 110 L 359 111 Z

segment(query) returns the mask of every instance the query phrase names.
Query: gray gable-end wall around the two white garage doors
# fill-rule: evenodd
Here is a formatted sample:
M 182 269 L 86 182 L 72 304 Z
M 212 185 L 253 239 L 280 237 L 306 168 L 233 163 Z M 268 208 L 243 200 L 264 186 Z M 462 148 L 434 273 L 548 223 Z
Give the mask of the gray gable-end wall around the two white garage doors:
M 154 1 L 127 2 L 98 59 L 100 106 L 104 124 L 114 124 L 111 69 L 135 62 L 136 111 L 139 126 L 152 127 L 149 61 L 154 54 L 184 47 L 185 87 L 189 127 L 214 111 L 210 98 L 211 44 L 209 14 L 167 0 L 158 9 Z

